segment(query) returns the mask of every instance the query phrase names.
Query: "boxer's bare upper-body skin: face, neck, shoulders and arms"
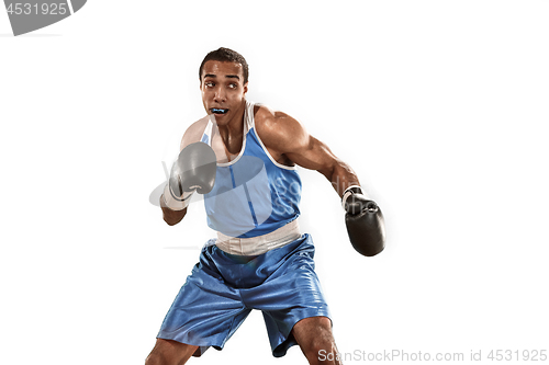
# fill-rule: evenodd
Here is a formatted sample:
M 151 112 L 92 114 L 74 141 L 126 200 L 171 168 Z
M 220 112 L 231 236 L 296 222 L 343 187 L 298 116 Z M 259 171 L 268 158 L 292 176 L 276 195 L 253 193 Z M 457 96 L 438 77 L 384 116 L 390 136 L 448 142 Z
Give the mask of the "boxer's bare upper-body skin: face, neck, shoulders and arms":
M 233 160 L 242 149 L 248 91 L 248 83 L 243 83 L 243 79 L 242 65 L 236 62 L 210 60 L 202 70 L 200 90 L 206 113 L 215 115 L 217 128 L 212 137 L 212 148 L 219 162 Z M 219 110 L 226 112 L 215 113 Z M 332 182 L 339 197 L 348 186 L 360 185 L 355 171 L 324 142 L 311 136 L 296 119 L 264 105 L 256 106 L 254 114 L 256 132 L 278 163 L 318 171 Z M 208 118 L 202 118 L 192 124 L 183 135 L 180 149 L 199 141 L 206 123 Z M 187 214 L 187 208 L 171 210 L 165 204 L 161 208 L 164 220 L 170 226 L 181 221 Z

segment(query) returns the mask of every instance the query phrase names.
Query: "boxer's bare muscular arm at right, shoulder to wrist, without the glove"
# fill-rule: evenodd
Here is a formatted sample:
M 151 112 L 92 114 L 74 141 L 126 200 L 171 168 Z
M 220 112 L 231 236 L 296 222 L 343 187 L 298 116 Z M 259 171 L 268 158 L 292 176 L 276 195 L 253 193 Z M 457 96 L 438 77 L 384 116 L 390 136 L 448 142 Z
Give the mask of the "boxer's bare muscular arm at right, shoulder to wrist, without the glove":
M 258 111 L 258 134 L 273 158 L 284 157 L 310 170 L 322 173 L 341 197 L 345 190 L 360 182 L 350 166 L 338 159 L 321 140 L 311 136 L 291 116 L 268 110 Z

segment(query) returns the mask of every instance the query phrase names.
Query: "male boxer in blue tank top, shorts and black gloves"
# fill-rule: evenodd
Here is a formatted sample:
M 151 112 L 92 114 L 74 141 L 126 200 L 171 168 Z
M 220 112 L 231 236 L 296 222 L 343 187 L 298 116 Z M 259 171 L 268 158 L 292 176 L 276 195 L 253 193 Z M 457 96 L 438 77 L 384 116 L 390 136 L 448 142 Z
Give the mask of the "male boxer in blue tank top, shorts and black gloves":
M 298 121 L 246 100 L 242 55 L 211 52 L 199 77 L 209 116 L 184 133 L 160 205 L 172 226 L 186 216 L 192 191 L 204 193 L 217 239 L 202 249 L 146 364 L 184 364 L 209 346 L 221 350 L 251 309 L 264 313 L 274 356 L 299 344 L 310 364 L 339 364 L 314 246 L 299 231 L 296 166 L 333 183 L 347 210 L 351 243 L 365 255 L 383 250 L 381 210 L 361 194 L 352 169 Z

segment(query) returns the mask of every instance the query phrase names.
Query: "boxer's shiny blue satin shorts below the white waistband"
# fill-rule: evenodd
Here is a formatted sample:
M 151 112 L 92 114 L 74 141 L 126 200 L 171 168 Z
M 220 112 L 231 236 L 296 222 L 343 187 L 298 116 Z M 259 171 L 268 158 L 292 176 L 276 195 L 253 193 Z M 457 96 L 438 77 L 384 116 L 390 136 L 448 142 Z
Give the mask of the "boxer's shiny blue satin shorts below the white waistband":
M 215 240 L 209 241 L 214 243 Z M 202 249 L 200 262 L 164 319 L 158 339 L 222 350 L 251 309 L 262 311 L 274 357 L 295 345 L 293 326 L 309 317 L 330 318 L 314 272 L 310 235 L 257 256 Z

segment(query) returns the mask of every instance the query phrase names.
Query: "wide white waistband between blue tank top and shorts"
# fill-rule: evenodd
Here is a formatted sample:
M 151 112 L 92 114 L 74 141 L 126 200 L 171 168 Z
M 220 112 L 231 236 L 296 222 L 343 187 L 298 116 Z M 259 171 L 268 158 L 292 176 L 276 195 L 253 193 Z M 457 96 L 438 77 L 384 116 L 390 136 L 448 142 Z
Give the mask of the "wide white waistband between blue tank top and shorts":
M 258 237 L 236 238 L 217 232 L 215 246 L 227 253 L 248 256 L 278 249 L 300 237 L 300 226 L 298 219 L 294 219 L 270 233 Z

